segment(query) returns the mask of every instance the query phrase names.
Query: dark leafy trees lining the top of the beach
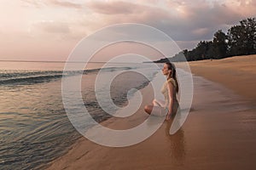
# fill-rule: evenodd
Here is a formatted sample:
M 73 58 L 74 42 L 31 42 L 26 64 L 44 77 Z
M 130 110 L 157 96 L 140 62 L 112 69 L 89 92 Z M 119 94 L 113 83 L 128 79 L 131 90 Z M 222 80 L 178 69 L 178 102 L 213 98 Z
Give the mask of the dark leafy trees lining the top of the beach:
M 176 54 L 171 61 L 188 61 L 201 59 L 224 59 L 236 55 L 256 54 L 256 18 L 241 20 L 239 25 L 232 26 L 227 34 L 222 30 L 214 33 L 212 41 L 201 41 L 192 49 L 184 49 Z M 160 59 L 157 62 L 166 62 Z

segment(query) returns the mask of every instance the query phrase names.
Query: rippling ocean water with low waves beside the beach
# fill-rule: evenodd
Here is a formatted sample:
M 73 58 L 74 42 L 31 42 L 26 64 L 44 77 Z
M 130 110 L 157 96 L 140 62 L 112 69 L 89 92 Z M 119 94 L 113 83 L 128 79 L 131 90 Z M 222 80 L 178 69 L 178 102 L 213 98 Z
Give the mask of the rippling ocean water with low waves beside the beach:
M 63 65 L 0 61 L 0 169 L 42 169 L 81 137 L 63 107 Z M 97 122 L 111 117 L 96 101 L 95 81 L 101 67 L 102 63 L 90 63 L 84 71 L 65 72 L 67 77 L 83 74 L 84 105 Z M 110 96 L 115 105 L 124 106 L 127 92 L 147 86 L 156 71 L 148 64 L 112 64 L 102 70 L 106 76 L 116 73 L 120 74 L 113 78 Z

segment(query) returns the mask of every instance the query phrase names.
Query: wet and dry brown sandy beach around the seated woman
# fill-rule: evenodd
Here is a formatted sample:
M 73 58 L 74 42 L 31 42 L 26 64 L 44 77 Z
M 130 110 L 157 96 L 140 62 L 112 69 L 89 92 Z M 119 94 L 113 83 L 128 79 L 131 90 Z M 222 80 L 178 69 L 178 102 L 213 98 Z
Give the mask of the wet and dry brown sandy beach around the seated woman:
M 164 122 L 150 138 L 112 148 L 81 138 L 48 169 L 255 169 L 256 55 L 189 63 L 194 99 L 177 133 Z M 142 90 L 143 105 L 153 99 L 152 87 Z M 148 115 L 143 105 L 133 116 L 102 124 L 115 129 L 135 127 Z

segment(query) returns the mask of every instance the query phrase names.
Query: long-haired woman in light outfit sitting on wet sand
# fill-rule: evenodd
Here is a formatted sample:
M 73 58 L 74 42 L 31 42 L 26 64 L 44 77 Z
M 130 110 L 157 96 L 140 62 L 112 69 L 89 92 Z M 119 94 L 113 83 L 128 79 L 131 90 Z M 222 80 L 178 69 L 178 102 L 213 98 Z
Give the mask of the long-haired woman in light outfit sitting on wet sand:
M 161 88 L 161 93 L 164 95 L 165 101 L 154 99 L 153 105 L 146 105 L 144 111 L 150 115 L 154 108 L 153 115 L 166 116 L 166 120 L 170 120 L 171 116 L 176 114 L 179 106 L 176 97 L 178 84 L 175 66 L 169 62 L 165 63 L 162 73 L 167 79 Z

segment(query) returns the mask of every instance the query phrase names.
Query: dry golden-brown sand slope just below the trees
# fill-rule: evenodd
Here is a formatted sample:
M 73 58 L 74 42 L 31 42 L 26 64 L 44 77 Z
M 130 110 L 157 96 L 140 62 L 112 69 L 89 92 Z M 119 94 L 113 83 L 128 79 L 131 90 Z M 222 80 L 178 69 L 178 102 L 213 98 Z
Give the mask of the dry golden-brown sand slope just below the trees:
M 219 82 L 237 94 L 256 101 L 256 55 L 189 62 L 195 75 Z

